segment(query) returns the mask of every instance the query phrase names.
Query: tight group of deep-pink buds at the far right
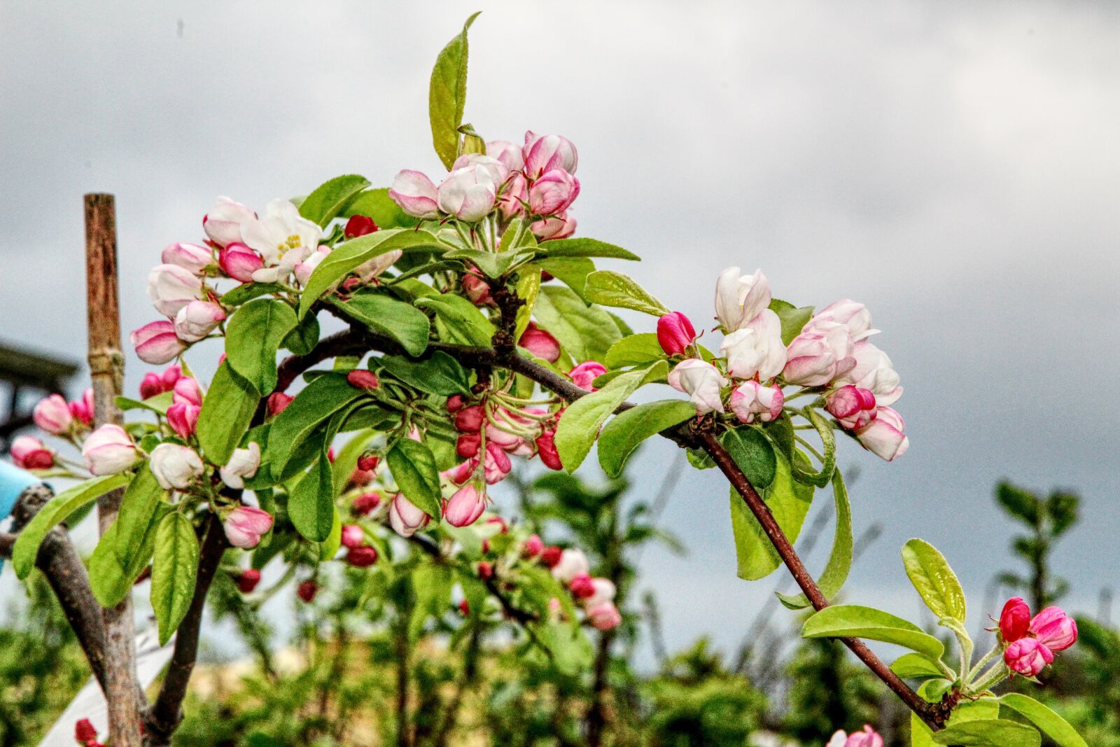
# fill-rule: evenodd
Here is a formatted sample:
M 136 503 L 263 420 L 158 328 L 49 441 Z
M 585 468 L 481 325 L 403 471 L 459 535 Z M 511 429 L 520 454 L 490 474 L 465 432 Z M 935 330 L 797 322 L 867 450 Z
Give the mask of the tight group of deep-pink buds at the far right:
M 1021 597 L 1012 597 L 999 616 L 999 637 L 1004 643 L 1004 663 L 1011 672 L 1035 676 L 1054 654 L 1077 641 L 1077 623 L 1061 607 L 1047 607 L 1034 618 Z

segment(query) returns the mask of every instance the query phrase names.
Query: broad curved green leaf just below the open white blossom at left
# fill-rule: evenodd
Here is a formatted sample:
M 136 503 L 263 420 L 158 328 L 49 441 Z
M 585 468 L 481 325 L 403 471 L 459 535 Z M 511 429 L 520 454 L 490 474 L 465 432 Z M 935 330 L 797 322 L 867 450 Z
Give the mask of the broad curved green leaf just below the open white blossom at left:
M 226 324 L 225 360 L 261 396 L 268 396 L 277 385 L 277 351 L 295 328 L 296 312 L 283 301 L 249 301 Z

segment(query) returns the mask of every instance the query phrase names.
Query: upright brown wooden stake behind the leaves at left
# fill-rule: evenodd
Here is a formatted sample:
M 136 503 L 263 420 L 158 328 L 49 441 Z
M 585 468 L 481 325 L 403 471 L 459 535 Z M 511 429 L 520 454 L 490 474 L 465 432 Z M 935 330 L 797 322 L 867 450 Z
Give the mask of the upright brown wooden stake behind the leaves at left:
M 116 407 L 124 382 L 121 353 L 121 312 L 116 292 L 116 215 L 112 195 L 85 196 L 86 308 L 88 361 L 93 379 L 94 427 L 121 424 Z M 116 520 L 123 489 L 97 501 L 101 534 Z M 136 625 L 132 599 L 102 610 L 105 626 L 105 700 L 113 747 L 140 747 L 140 691 L 136 667 Z

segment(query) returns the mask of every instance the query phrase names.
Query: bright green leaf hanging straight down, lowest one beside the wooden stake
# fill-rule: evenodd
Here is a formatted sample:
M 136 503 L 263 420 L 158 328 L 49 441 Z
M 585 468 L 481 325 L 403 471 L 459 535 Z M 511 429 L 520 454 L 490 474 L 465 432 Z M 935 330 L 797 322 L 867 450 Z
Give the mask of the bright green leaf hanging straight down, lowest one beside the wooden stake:
M 166 645 L 190 608 L 198 572 L 198 538 L 190 520 L 169 513 L 156 532 L 151 563 L 151 608 L 159 624 L 159 645 Z

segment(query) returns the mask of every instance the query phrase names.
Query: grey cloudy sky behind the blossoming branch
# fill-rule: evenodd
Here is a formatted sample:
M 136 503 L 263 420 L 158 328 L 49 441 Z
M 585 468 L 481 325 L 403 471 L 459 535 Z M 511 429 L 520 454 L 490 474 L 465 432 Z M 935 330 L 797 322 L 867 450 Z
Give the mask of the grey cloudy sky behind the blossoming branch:
M 922 535 L 978 623 L 1010 562 L 1005 476 L 1084 496 L 1057 552 L 1071 607 L 1120 585 L 1116 3 L 8 0 L 0 338 L 83 357 L 83 193 L 116 195 L 131 329 L 153 318 L 148 268 L 202 236 L 216 195 L 438 174 L 428 74 L 478 9 L 466 119 L 577 143 L 580 233 L 645 258 L 605 267 L 693 319 L 730 264 L 797 305 L 872 310 L 912 446 L 890 465 L 842 452 L 858 525 L 885 530 L 848 600 L 917 615 L 898 548 Z M 646 449 L 641 494 L 673 458 Z M 690 473 L 664 520 L 690 549 L 643 557 L 670 644 L 732 646 L 773 582 L 735 578 L 725 484 Z

